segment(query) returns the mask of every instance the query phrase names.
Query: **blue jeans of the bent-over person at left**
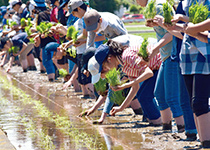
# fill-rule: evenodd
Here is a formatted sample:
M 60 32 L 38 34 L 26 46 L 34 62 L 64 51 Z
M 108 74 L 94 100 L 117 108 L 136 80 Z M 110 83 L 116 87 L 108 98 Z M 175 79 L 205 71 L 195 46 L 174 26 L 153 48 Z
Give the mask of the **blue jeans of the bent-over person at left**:
M 42 50 L 42 61 L 43 65 L 46 68 L 47 74 L 55 73 L 56 67 L 52 61 L 53 53 L 57 51 L 59 46 L 56 42 L 50 42 Z

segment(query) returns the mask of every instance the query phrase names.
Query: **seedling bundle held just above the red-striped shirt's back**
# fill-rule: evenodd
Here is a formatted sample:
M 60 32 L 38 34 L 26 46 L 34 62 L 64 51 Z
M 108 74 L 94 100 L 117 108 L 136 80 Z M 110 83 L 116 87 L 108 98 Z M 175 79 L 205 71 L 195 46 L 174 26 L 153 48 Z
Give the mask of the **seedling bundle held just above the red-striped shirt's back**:
M 138 51 L 138 56 L 142 57 L 144 61 L 148 62 L 149 61 L 149 54 L 147 51 L 147 45 L 148 45 L 148 39 L 145 38 L 144 41 L 141 44 L 141 47 Z

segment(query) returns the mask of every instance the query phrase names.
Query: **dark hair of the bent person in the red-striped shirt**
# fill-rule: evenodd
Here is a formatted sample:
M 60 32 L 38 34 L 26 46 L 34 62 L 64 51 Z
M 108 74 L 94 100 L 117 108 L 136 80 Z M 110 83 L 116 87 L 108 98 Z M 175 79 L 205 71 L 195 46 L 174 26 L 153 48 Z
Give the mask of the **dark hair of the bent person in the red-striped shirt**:
M 109 46 L 109 53 L 114 56 L 122 55 L 123 50 L 120 46 L 120 43 L 113 40 L 108 40 L 107 45 Z

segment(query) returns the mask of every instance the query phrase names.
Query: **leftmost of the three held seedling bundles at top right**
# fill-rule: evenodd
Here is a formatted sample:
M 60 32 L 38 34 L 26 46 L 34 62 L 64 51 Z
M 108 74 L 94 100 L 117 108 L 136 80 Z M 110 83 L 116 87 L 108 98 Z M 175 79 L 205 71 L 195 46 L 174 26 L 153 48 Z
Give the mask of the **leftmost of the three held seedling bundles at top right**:
M 149 4 L 147 5 L 147 7 L 145 7 L 144 9 L 143 14 L 144 14 L 144 17 L 146 18 L 146 25 L 149 23 L 153 23 L 153 19 L 155 15 L 157 14 L 155 5 L 156 5 L 155 0 L 151 0 Z

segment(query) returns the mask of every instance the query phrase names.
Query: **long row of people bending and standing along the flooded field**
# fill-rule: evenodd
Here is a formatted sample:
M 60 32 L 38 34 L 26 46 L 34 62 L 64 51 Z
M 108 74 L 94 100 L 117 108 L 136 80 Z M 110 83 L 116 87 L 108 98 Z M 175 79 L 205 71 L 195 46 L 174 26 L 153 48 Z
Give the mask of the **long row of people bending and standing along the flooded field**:
M 148 5 L 148 0 L 136 2 L 142 7 Z M 185 132 L 186 141 L 196 140 L 198 134 L 201 146 L 210 148 L 209 19 L 189 23 L 189 7 L 195 3 L 209 6 L 210 1 L 180 1 L 176 10 L 171 7 L 172 25 L 164 23 L 165 2 L 156 0 L 157 15 L 147 22 L 154 28 L 157 41 L 149 40 L 145 61 L 137 55 L 143 38 L 129 35 L 119 17 L 92 9 L 88 1 L 30 0 L 23 4 L 10 0 L 9 7 L 2 8 L 6 28 L 0 40 L 1 67 L 10 57 L 7 72 L 18 59 L 23 72 L 36 70 L 35 56 L 41 73 L 46 71 L 50 82 L 63 68 L 70 72 L 64 89 L 73 85 L 75 92 L 82 91 L 82 98 L 97 97 L 93 107 L 79 116 L 92 114 L 105 102 L 101 118 L 94 121 L 101 124 L 108 114 L 114 116 L 131 106 L 149 125 L 162 126 L 163 130 L 172 130 L 174 118 L 178 132 Z M 30 35 L 21 26 L 22 18 L 32 18 L 28 20 L 32 22 Z M 52 23 L 47 33 L 38 31 L 37 26 L 43 22 Z M 9 28 L 9 24 L 13 26 Z M 77 30 L 76 36 L 66 38 L 71 26 Z M 113 68 L 121 72 L 123 84 L 107 85 L 105 94 L 97 93 L 94 84 L 104 80 Z M 114 106 L 112 95 L 121 90 L 125 99 Z

